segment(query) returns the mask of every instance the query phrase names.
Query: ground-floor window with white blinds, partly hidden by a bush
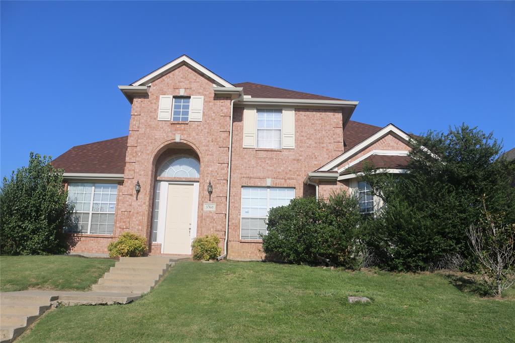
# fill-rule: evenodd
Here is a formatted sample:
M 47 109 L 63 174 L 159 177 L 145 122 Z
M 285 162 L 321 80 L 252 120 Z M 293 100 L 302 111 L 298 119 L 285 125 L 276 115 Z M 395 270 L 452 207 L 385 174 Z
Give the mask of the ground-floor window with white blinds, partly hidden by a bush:
M 271 208 L 289 204 L 295 188 L 242 187 L 241 239 L 261 239 L 267 233 L 266 220 Z

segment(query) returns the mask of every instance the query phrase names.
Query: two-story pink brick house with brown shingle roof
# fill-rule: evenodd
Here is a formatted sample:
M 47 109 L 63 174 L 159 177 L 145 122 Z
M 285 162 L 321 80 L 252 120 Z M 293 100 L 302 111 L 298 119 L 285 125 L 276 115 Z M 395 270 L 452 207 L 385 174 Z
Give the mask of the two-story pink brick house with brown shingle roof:
M 118 88 L 132 104 L 128 136 L 53 161 L 75 204 L 72 252 L 105 254 L 131 231 L 151 255 L 190 254 L 195 237 L 215 233 L 227 258 L 261 259 L 268 209 L 346 190 L 373 212 L 354 173 L 407 164 L 408 134 L 351 121 L 357 101 L 231 84 L 185 55 Z

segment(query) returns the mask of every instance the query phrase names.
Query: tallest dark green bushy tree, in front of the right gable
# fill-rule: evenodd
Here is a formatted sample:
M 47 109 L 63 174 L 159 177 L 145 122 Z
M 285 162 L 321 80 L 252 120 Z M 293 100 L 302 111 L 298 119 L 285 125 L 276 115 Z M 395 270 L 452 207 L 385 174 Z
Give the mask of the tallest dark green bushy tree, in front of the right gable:
M 515 222 L 515 165 L 497 159 L 501 145 L 492 134 L 467 125 L 430 131 L 413 145 L 408 174 L 364 175 L 386 203 L 368 222 L 368 244 L 387 269 L 426 270 L 459 255 L 462 268 L 474 270 L 467 228 L 479 221 L 484 197 L 492 213 Z

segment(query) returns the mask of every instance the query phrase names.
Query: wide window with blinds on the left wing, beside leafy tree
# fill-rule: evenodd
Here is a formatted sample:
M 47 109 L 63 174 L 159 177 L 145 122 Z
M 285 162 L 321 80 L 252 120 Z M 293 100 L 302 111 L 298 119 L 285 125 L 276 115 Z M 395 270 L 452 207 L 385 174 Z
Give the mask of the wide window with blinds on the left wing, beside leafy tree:
M 68 204 L 74 211 L 64 231 L 112 235 L 117 190 L 111 183 L 68 184 Z

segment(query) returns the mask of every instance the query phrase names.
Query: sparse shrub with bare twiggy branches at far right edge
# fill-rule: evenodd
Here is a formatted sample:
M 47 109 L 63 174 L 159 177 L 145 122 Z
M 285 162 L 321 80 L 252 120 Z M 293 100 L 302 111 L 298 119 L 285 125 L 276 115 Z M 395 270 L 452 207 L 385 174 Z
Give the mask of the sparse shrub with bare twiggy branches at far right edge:
M 497 297 L 515 282 L 515 224 L 505 224 L 503 217 L 484 208 L 484 222 L 467 231 L 469 245 L 479 261 L 483 283 Z

